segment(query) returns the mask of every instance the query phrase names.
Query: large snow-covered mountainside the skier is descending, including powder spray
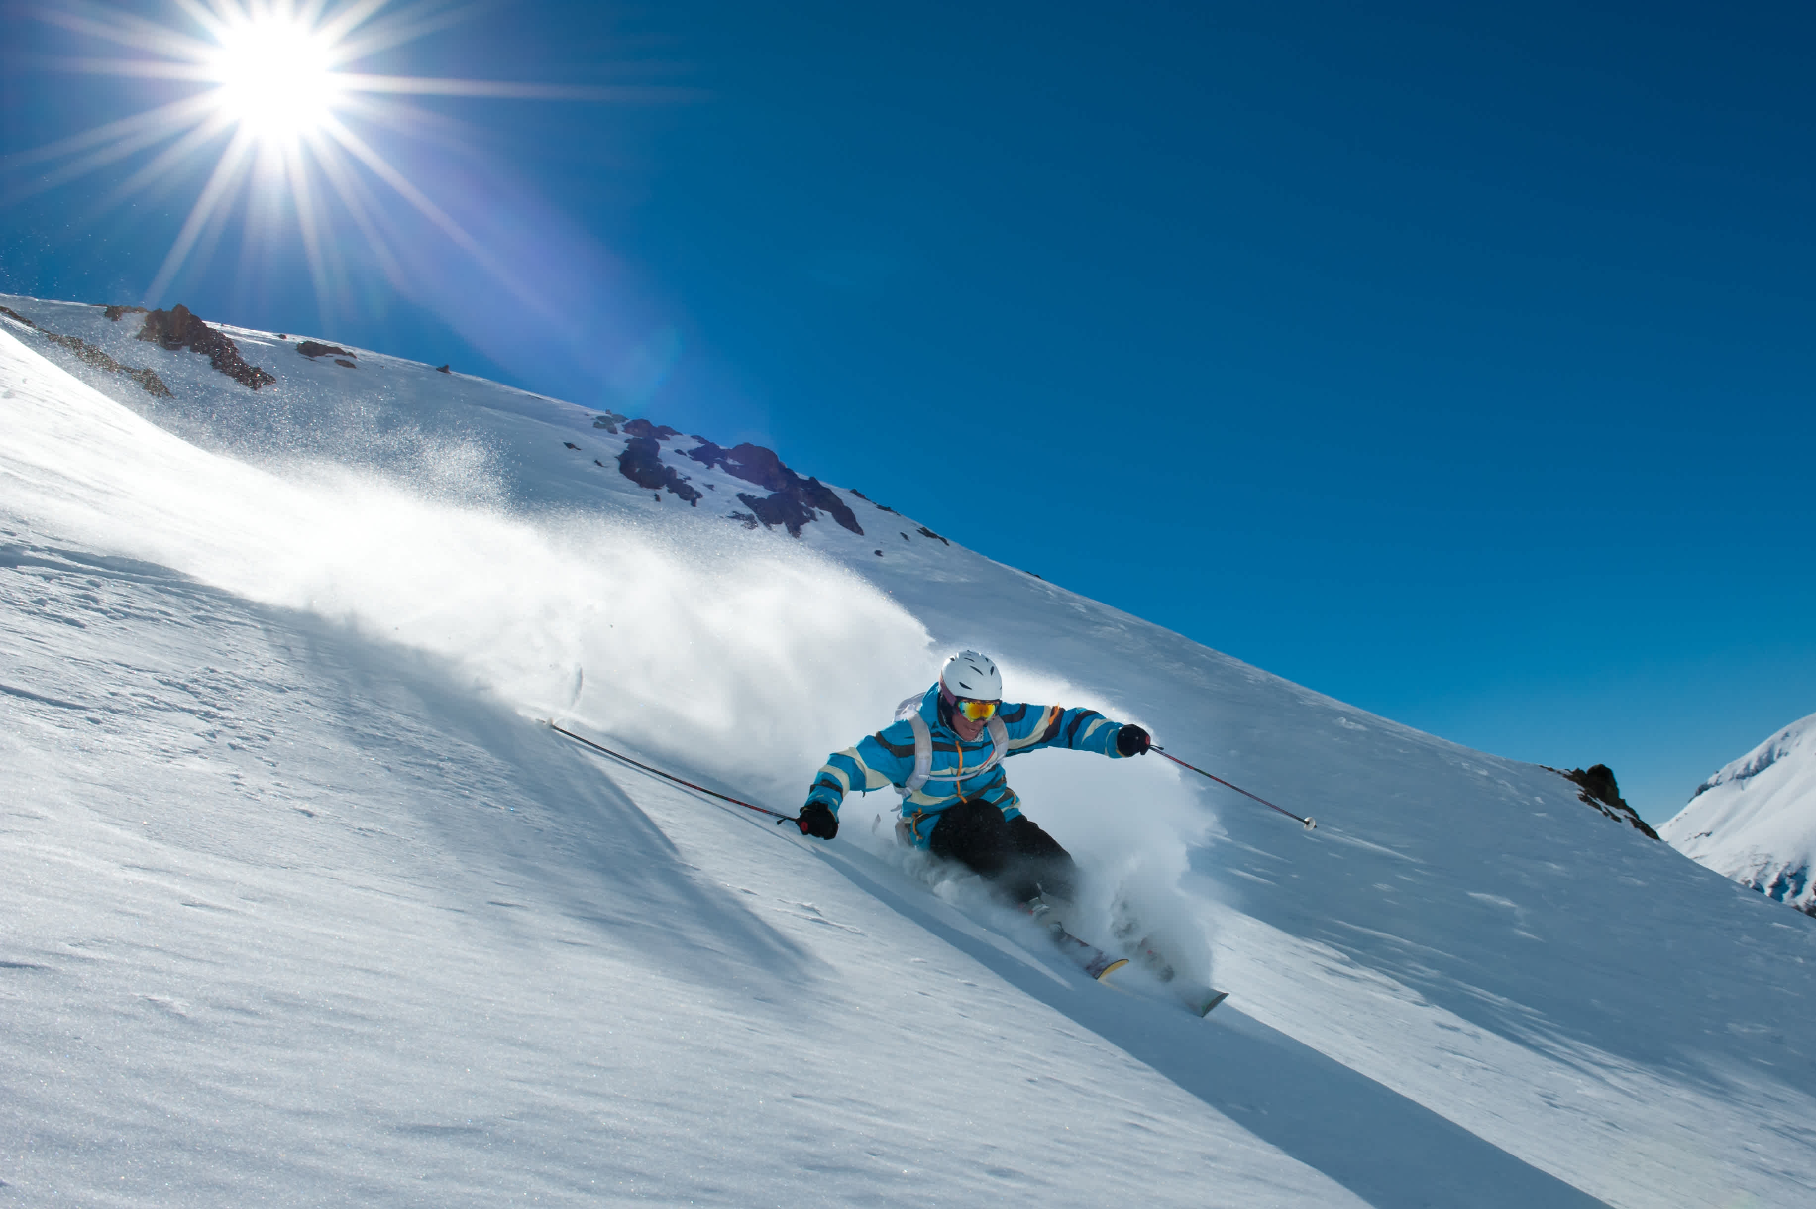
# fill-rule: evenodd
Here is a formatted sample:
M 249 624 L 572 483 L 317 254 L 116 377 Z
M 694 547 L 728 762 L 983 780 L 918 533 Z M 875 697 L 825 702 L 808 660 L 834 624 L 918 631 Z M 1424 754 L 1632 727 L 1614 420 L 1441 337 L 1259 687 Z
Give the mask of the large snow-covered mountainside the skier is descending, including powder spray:
M 1816 1191 L 1816 920 L 1554 773 L 855 496 L 864 537 L 746 530 L 686 437 L 697 508 L 577 407 L 229 329 L 254 396 L 136 316 L 0 301 L 176 392 L 0 323 L 0 1204 Z M 1231 991 L 1209 1020 L 930 886 L 881 795 L 814 844 L 532 721 L 794 808 L 955 644 L 1318 817 L 1010 764 L 1081 929 L 1133 899 Z

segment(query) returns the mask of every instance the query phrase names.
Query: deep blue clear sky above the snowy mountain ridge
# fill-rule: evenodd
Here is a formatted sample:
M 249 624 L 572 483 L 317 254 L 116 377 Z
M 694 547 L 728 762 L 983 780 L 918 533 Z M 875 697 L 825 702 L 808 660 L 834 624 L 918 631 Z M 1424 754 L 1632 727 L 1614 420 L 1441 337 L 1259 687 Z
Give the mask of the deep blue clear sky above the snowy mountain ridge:
M 501 267 L 381 196 L 389 278 L 238 212 L 154 301 L 774 445 L 1654 821 L 1816 712 L 1816 15 L 979 9 L 481 11 L 360 67 L 630 89 L 358 127 Z M 4 13 L 0 154 L 192 87 Z M 0 289 L 138 300 L 212 167 L 142 162 L 13 163 Z

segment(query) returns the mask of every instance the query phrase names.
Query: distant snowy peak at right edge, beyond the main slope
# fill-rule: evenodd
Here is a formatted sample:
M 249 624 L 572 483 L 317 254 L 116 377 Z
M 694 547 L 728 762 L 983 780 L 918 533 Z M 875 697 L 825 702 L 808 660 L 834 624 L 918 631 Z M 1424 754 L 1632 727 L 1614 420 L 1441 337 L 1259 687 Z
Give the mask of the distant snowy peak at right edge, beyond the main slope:
M 1696 786 L 1658 835 L 1716 873 L 1816 915 L 1816 713 Z

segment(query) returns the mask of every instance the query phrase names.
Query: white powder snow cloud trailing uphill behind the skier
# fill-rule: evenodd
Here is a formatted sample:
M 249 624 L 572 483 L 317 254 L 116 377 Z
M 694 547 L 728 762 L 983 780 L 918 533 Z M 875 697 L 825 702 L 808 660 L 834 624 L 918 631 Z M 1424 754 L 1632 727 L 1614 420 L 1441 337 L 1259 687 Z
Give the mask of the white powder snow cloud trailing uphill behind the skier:
M 427 652 L 527 715 L 781 804 L 850 742 L 846 719 L 888 717 L 932 664 L 913 617 L 810 552 L 476 503 L 498 497 L 478 472 L 456 494 L 372 467 L 249 465 L 7 352 L 38 365 L 7 401 L 0 476 L 53 532 Z

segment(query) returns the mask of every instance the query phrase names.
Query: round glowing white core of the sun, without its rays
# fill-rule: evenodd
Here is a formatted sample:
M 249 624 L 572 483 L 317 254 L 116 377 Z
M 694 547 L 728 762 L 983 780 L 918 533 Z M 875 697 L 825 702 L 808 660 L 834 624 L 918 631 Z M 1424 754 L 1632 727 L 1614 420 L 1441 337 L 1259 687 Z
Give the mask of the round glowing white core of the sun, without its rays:
M 256 138 L 294 140 L 320 131 L 341 93 L 329 40 L 285 16 L 225 24 L 209 73 L 214 103 Z

